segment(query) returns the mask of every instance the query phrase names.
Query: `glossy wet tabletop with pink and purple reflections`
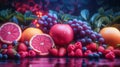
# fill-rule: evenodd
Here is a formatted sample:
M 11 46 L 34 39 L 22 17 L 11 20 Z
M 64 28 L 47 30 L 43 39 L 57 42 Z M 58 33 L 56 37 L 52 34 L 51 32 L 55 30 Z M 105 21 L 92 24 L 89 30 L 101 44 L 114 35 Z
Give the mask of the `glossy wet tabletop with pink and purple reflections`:
M 110 61 L 86 58 L 26 58 L 0 60 L 0 67 L 120 67 L 120 59 Z

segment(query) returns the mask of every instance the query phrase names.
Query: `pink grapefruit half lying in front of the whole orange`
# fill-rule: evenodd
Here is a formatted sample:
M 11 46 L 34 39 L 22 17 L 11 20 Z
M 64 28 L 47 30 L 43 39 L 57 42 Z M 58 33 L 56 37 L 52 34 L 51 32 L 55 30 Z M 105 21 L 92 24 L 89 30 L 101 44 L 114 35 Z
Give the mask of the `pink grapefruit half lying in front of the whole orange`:
M 54 46 L 53 39 L 48 34 L 34 35 L 30 41 L 30 47 L 39 53 L 41 56 L 49 54 L 49 49 Z

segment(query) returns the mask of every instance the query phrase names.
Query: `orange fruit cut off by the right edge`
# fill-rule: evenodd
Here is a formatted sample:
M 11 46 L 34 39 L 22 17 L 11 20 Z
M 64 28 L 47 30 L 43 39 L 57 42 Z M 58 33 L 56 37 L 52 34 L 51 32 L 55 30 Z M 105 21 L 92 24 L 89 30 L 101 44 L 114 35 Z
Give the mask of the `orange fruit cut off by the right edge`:
M 105 27 L 100 30 L 100 34 L 105 39 L 106 44 L 116 46 L 120 44 L 120 31 L 115 27 Z

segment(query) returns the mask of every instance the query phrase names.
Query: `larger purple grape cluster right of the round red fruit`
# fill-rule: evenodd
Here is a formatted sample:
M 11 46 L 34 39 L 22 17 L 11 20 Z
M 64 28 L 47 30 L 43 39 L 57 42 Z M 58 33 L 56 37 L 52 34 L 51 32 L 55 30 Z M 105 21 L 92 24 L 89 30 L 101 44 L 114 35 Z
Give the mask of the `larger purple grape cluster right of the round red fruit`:
M 104 38 L 102 38 L 99 33 L 93 31 L 87 22 L 73 19 L 69 20 L 68 24 L 72 27 L 74 31 L 75 41 L 80 41 L 84 45 L 92 42 L 97 42 L 99 44 L 104 43 Z

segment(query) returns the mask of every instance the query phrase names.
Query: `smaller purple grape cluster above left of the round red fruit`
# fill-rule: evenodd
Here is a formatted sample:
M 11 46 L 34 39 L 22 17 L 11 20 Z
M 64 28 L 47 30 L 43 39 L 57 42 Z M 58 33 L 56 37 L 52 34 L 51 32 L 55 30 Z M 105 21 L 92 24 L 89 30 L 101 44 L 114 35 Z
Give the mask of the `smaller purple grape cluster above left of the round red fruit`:
M 48 15 L 42 16 L 38 19 L 38 24 L 40 25 L 40 29 L 44 33 L 49 33 L 50 28 L 57 24 L 57 15 L 49 13 Z

